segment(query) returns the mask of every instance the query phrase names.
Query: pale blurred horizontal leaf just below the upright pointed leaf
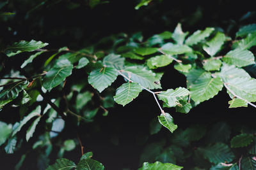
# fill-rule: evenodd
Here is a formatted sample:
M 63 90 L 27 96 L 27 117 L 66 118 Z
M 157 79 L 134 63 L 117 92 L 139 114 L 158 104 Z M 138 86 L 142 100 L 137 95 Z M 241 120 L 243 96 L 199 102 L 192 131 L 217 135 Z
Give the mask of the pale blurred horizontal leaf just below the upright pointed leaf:
M 188 45 L 174 45 L 173 43 L 166 43 L 160 49 L 166 55 L 177 55 L 182 53 L 191 53 L 193 50 Z

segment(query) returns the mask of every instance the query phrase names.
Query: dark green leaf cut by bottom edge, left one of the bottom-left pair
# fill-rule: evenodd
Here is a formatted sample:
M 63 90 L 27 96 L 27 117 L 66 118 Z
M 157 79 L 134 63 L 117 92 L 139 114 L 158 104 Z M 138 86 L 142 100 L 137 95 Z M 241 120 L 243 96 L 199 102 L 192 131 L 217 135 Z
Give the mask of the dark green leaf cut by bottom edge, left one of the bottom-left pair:
M 76 167 L 76 164 L 72 162 L 71 160 L 61 158 L 57 159 L 54 164 L 47 167 L 46 170 L 70 170 L 74 169 Z

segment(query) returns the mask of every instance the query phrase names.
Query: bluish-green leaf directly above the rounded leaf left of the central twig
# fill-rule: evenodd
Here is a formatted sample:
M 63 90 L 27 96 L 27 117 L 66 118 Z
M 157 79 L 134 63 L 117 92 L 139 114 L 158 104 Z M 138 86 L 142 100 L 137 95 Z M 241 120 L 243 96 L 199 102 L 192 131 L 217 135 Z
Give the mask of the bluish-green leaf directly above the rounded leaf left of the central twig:
M 120 55 L 116 55 L 111 53 L 104 57 L 103 66 L 104 67 L 113 67 L 115 69 L 123 69 L 124 68 L 124 58 L 120 57 Z

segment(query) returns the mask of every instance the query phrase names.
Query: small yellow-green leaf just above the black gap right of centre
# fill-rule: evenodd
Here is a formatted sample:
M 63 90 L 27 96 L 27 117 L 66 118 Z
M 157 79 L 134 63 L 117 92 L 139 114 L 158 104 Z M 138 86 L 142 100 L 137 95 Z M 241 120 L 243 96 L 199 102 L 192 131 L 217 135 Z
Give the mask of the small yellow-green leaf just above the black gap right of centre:
M 150 69 L 156 69 L 157 67 L 164 67 L 171 64 L 173 61 L 172 57 L 168 55 L 157 55 L 147 60 L 147 66 Z

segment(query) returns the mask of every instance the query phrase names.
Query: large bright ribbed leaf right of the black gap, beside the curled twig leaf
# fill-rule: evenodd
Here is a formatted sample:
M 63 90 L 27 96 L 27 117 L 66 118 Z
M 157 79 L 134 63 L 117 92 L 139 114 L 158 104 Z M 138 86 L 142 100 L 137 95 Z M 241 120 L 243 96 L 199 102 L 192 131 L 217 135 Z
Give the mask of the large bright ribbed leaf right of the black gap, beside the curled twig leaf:
M 216 96 L 222 89 L 223 82 L 220 78 L 211 78 L 211 74 L 205 74 L 189 86 L 191 99 L 195 102 L 203 102 Z

